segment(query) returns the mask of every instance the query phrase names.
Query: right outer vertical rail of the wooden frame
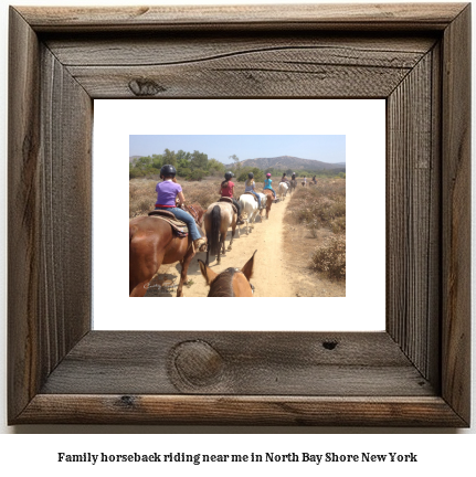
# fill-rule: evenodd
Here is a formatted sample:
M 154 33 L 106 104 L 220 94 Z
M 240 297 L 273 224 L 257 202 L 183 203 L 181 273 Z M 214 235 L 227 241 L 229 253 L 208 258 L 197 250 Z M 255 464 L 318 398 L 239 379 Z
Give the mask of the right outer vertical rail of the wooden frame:
M 470 6 L 443 41 L 443 398 L 469 421 Z

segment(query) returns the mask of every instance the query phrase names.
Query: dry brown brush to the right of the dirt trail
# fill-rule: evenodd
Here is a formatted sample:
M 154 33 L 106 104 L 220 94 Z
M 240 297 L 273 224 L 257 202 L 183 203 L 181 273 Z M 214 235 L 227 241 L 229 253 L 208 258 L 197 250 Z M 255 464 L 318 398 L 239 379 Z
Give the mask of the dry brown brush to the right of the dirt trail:
M 287 223 L 309 231 L 316 243 L 308 266 L 331 279 L 346 277 L 346 180 L 319 178 L 298 184 L 288 205 Z M 320 233 L 322 231 L 322 233 Z

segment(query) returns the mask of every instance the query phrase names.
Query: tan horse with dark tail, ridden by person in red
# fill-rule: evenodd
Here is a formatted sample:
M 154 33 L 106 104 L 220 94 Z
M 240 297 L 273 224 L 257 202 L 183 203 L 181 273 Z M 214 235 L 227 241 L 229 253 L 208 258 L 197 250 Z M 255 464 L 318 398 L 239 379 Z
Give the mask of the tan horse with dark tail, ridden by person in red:
M 236 229 L 236 212 L 229 202 L 213 202 L 203 215 L 203 225 L 207 233 L 207 265 L 209 255 L 216 255 L 216 264 L 221 262 L 220 255 L 225 254 L 225 239 L 229 227 L 232 227 L 232 237 L 228 250 L 232 250 L 233 237 Z M 240 233 L 240 230 L 239 230 Z

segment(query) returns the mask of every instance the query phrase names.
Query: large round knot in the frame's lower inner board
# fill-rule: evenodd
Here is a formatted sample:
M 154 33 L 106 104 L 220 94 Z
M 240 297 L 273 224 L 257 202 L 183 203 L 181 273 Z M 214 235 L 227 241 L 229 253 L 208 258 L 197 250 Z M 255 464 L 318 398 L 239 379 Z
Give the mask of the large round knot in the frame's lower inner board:
M 218 351 L 201 340 L 179 343 L 172 351 L 172 365 L 180 379 L 193 386 L 215 383 L 224 367 Z

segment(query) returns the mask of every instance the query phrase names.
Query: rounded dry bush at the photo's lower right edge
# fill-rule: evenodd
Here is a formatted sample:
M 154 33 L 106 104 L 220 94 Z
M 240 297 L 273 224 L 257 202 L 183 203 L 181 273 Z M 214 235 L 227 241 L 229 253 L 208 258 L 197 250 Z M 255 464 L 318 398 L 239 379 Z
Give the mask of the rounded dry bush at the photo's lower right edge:
M 345 235 L 331 235 L 319 244 L 313 253 L 310 266 L 329 278 L 346 278 Z

